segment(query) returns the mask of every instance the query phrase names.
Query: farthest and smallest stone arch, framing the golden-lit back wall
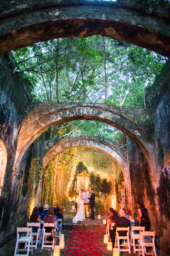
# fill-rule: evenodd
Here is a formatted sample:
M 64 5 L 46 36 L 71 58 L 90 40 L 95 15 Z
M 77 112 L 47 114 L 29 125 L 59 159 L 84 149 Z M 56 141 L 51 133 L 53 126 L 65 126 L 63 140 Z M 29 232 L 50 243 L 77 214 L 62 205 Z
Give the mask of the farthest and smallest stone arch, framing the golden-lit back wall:
M 56 157 L 57 154 L 70 149 L 77 147 L 85 147 L 85 148 L 94 148 L 98 149 L 105 154 L 107 154 L 110 158 L 112 158 L 119 165 L 121 171 L 124 174 L 125 179 L 125 187 L 126 193 L 128 196 L 128 205 L 129 207 L 132 205 L 132 197 L 131 197 L 131 181 L 129 169 L 126 161 L 126 150 L 125 146 L 117 145 L 112 141 L 109 141 L 102 137 L 90 137 L 90 136 L 80 136 L 80 137 L 72 137 L 66 139 L 62 139 L 57 142 L 46 154 L 43 158 L 43 167 L 45 168 L 47 164 Z

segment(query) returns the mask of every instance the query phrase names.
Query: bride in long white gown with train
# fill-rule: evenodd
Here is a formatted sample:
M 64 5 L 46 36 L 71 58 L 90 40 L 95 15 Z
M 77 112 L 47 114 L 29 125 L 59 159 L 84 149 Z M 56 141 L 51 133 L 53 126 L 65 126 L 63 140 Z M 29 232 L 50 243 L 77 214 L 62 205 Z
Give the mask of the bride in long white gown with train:
M 84 189 L 81 189 L 78 194 L 78 203 L 77 203 L 77 214 L 73 219 L 73 223 L 77 223 L 77 221 L 83 221 L 85 220 L 85 214 L 84 214 L 84 200 L 87 199 L 83 198 Z

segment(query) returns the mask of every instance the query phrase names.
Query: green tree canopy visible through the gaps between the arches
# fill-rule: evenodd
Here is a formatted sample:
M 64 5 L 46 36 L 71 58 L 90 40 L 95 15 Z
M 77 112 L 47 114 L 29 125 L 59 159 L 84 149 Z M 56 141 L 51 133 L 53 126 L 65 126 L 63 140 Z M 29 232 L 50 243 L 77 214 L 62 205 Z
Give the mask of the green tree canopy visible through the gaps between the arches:
M 39 42 L 13 54 L 19 67 L 16 70 L 23 74 L 36 102 L 94 102 L 118 107 L 142 107 L 142 103 L 145 107 L 145 87 L 166 62 L 152 51 L 101 36 Z M 50 136 L 70 132 L 115 140 L 120 134 L 94 121 L 65 123 L 48 131 Z

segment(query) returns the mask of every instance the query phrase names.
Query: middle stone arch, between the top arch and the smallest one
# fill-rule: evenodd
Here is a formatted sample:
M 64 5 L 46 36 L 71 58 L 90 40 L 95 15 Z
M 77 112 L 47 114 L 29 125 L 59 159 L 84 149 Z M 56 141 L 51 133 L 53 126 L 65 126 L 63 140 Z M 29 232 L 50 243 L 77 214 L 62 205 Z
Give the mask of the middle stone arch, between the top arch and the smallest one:
M 51 125 L 71 120 L 95 120 L 107 123 L 127 134 L 144 153 L 151 171 L 153 163 L 153 144 L 150 135 L 137 124 L 138 120 L 148 119 L 148 112 L 142 108 L 110 106 L 106 104 L 81 103 L 39 103 L 21 124 L 15 168 L 19 168 L 23 154 L 29 145 Z

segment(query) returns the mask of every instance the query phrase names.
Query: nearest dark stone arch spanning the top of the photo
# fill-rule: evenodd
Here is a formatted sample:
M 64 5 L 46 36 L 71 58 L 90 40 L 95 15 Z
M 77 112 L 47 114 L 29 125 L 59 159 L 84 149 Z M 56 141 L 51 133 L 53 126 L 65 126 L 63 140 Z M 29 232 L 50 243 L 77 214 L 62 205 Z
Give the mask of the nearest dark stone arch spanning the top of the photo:
M 39 41 L 102 35 L 170 57 L 169 10 L 160 8 L 150 3 L 146 12 L 139 1 L 121 0 L 14 1 L 1 8 L 0 56 Z

